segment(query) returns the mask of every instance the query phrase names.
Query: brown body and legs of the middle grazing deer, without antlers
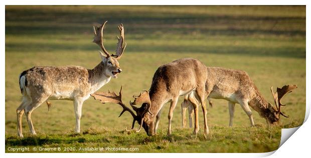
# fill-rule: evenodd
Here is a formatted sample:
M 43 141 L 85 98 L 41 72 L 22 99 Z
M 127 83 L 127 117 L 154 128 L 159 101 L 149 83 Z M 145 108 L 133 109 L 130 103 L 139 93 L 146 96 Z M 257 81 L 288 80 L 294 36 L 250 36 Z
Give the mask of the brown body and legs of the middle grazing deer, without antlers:
M 202 100 L 204 100 L 205 81 L 207 79 L 206 77 L 206 66 L 194 58 L 182 58 L 160 66 L 153 75 L 152 83 L 149 89 L 149 98 L 151 104 L 148 106 L 150 107 L 152 114 L 147 112 L 145 113 L 144 117 L 140 116 L 143 117 L 142 126 L 144 127 L 147 134 L 153 135 L 157 132 L 161 109 L 167 101 L 171 101 L 170 112 L 168 116 L 168 135 L 170 135 L 173 110 L 175 109 L 178 97 L 188 93 L 196 93 L 199 97 L 202 98 Z M 143 106 L 144 103 L 140 108 Z M 202 106 L 205 106 L 205 103 L 203 103 Z M 197 106 L 195 108 L 197 108 Z M 157 119 L 156 124 L 154 122 L 155 119 Z M 199 127 L 197 126 L 194 132 L 197 133 L 198 130 Z M 205 133 L 207 132 L 208 127 L 206 123 Z

